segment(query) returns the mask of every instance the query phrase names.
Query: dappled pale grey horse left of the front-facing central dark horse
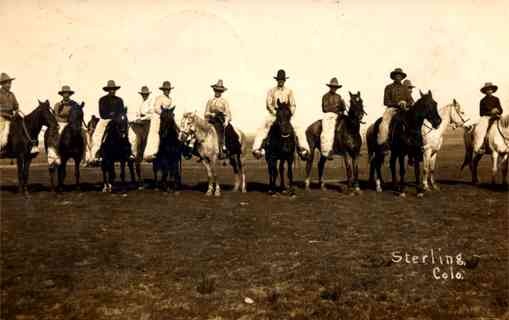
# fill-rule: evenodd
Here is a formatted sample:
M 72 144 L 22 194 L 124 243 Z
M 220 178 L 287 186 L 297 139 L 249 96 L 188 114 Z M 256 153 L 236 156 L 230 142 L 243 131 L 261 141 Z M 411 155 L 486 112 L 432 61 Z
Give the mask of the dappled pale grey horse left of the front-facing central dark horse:
M 232 127 L 233 128 L 233 127 Z M 245 135 L 240 130 L 233 128 L 238 137 L 238 143 L 241 148 L 232 151 L 229 154 L 230 164 L 235 173 L 235 185 L 233 191 L 246 192 L 246 178 L 244 171 L 243 155 L 245 150 Z M 221 187 L 217 180 L 216 164 L 218 160 L 219 146 L 218 133 L 214 125 L 200 118 L 196 113 L 187 112 L 182 116 L 179 140 L 185 145 L 189 145 L 190 141 L 195 141 L 192 148 L 193 155 L 200 159 L 207 170 L 208 187 L 206 196 L 221 196 Z

